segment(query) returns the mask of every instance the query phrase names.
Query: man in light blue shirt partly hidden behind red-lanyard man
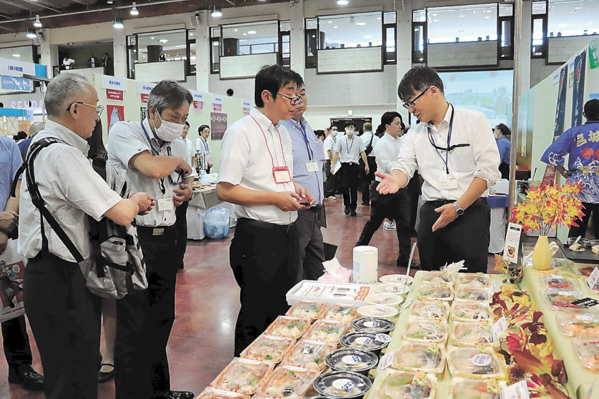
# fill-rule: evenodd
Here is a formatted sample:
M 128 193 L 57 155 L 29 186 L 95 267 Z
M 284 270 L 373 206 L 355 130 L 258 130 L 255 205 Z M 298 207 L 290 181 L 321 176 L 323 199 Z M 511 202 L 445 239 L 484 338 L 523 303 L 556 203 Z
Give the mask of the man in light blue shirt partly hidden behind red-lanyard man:
M 303 117 L 308 98 L 305 94 L 304 80 L 295 73 L 298 94 L 301 103 L 295 106 L 292 119 L 281 121 L 291 136 L 294 154 L 294 180 L 304 186 L 314 197 L 310 209 L 300 209 L 297 218 L 299 236 L 299 263 L 302 265 L 304 280 L 316 280 L 324 272 L 324 244 L 320 226 L 326 226 L 323 208 L 324 189 L 322 184 L 322 166 L 325 162 L 325 150 L 308 122 Z

